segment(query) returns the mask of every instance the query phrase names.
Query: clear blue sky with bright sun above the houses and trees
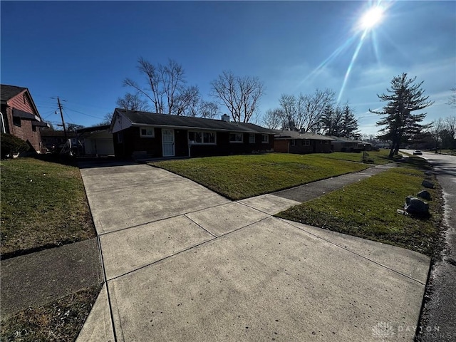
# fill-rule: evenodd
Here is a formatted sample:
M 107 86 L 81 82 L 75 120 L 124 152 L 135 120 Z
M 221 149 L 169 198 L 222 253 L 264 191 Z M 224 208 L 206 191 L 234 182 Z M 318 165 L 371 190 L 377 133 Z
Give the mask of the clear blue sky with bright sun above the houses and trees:
M 375 134 L 379 117 L 368 109 L 383 107 L 377 94 L 406 72 L 435 101 L 427 122 L 456 115 L 445 104 L 456 86 L 456 1 L 381 4 L 383 20 L 351 63 L 371 1 L 1 1 L 1 83 L 27 87 L 51 123 L 59 96 L 66 122 L 90 126 L 133 92 L 124 78 L 143 81 L 138 57 L 172 58 L 207 100 L 224 70 L 258 76 L 259 119 L 282 93 L 331 88 L 355 109 L 361 133 Z

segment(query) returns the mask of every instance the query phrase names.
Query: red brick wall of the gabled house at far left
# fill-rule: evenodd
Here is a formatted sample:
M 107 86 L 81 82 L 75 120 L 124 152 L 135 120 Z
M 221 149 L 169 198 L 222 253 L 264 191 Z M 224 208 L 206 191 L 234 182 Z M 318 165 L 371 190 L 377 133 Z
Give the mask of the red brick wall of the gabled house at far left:
M 33 106 L 31 105 L 31 100 L 29 98 L 29 95 L 26 91 L 19 93 L 18 95 L 14 96 L 14 98 L 11 98 L 8 100 L 8 106 L 2 105 L 1 106 L 1 113 L 4 115 L 4 121 L 5 121 L 5 130 L 6 133 L 10 133 L 12 135 L 15 135 L 18 138 L 21 138 L 22 140 L 30 142 L 32 145 L 33 149 L 36 150 L 36 152 L 40 153 L 41 152 L 41 133 L 40 133 L 40 128 L 38 127 L 32 127 L 32 121 L 28 119 L 20 119 L 21 126 L 19 125 L 14 125 L 14 120 L 13 120 L 13 108 L 16 108 L 18 110 L 22 110 L 26 113 L 32 113 L 34 115 L 38 115 L 35 110 L 33 110 Z M 39 116 L 39 115 L 38 115 Z M 16 118 L 19 122 L 19 118 Z

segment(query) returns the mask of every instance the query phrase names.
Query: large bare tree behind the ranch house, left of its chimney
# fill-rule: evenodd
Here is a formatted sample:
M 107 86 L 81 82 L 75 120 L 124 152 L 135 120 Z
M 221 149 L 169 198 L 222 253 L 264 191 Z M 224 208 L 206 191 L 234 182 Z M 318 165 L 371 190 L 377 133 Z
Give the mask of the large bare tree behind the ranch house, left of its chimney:
M 194 91 L 197 90 L 196 86 L 185 86 L 184 68 L 172 59 L 166 65 L 154 65 L 141 57 L 138 59 L 138 69 L 144 74 L 147 87 L 142 88 L 131 78 L 125 78 L 123 84 L 135 88 L 149 99 L 155 113 L 181 115 L 186 110 L 183 104 L 192 103 L 188 95 L 199 96 L 199 91 Z

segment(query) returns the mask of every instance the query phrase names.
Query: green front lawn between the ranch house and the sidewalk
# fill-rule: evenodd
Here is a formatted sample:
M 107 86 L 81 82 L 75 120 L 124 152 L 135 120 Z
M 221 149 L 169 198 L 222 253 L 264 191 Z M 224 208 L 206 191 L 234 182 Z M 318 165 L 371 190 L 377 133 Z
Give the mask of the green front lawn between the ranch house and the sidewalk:
M 232 155 L 152 162 L 150 165 L 190 178 L 229 199 L 244 199 L 316 180 L 364 170 L 360 162 L 326 155 Z

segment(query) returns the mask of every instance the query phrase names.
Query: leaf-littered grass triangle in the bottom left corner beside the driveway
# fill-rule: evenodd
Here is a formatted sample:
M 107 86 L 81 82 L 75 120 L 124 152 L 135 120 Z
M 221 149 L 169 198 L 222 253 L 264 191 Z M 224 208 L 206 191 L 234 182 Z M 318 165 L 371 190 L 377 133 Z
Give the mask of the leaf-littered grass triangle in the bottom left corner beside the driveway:
M 0 341 L 75 341 L 100 289 L 93 286 L 3 319 Z

